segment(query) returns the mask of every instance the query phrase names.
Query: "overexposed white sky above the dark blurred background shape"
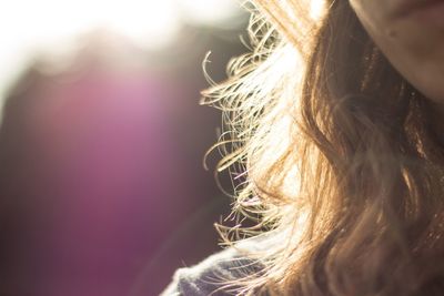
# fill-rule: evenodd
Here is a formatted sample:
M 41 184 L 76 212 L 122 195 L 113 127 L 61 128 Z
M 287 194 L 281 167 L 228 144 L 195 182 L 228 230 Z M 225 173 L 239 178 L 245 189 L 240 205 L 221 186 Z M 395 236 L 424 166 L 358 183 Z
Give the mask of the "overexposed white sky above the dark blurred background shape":
M 98 28 L 138 45 L 171 44 L 182 21 L 221 22 L 239 11 L 236 0 L 14 0 L 0 4 L 0 96 L 26 59 L 38 50 L 68 51 L 73 37 Z

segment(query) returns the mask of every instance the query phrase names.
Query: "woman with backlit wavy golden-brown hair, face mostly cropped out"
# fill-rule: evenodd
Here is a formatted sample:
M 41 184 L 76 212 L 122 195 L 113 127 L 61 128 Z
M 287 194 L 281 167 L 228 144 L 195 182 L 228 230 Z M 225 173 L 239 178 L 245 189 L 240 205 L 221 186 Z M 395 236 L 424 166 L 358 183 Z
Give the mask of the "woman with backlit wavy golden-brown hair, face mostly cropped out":
M 204 93 L 259 223 L 164 295 L 444 295 L 444 2 L 310 2 L 255 1 L 253 52 Z

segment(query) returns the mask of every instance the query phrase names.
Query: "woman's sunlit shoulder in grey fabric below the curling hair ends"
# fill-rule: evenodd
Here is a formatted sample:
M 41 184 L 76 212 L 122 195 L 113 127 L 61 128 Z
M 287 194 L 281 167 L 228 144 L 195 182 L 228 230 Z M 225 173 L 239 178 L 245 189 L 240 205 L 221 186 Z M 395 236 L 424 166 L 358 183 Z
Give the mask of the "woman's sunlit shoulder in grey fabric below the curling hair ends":
M 195 266 L 178 269 L 161 296 L 233 295 L 226 284 L 258 273 L 261 267 L 239 249 L 226 248 Z

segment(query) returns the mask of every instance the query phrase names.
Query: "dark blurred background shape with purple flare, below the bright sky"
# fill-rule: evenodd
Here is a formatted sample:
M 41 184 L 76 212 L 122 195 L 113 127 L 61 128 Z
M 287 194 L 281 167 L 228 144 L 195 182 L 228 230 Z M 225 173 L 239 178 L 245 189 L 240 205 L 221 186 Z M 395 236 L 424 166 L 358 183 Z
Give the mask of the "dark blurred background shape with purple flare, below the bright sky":
M 184 32 L 162 53 L 95 32 L 72 61 L 37 60 L 11 89 L 0 295 L 157 295 L 182 263 L 216 249 L 212 223 L 229 200 L 201 165 L 219 114 L 198 106 L 200 65 L 215 49 L 223 78 L 241 45 Z

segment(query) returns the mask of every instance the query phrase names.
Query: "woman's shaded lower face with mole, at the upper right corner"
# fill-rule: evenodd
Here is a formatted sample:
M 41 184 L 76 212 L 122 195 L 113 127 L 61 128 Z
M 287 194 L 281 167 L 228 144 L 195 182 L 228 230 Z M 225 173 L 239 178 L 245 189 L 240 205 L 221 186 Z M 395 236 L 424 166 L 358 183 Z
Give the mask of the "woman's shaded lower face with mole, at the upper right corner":
M 350 0 L 394 68 L 444 104 L 444 0 Z

